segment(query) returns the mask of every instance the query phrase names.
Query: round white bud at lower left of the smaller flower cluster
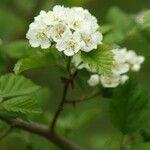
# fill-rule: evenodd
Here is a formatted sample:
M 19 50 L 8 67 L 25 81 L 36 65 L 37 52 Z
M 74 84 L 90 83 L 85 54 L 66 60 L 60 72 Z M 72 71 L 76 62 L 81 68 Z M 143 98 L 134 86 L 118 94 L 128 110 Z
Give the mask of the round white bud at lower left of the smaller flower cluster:
M 90 86 L 96 86 L 100 82 L 100 76 L 98 74 L 91 75 L 90 79 L 88 80 L 88 84 Z

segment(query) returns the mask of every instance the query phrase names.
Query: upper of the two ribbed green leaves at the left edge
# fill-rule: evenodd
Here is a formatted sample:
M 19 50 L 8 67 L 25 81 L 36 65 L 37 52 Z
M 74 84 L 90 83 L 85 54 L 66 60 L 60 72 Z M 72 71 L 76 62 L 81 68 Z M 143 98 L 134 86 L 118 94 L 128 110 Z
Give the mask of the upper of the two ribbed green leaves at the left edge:
M 31 94 L 38 89 L 39 86 L 20 75 L 7 74 L 0 78 L 0 91 L 3 98 Z

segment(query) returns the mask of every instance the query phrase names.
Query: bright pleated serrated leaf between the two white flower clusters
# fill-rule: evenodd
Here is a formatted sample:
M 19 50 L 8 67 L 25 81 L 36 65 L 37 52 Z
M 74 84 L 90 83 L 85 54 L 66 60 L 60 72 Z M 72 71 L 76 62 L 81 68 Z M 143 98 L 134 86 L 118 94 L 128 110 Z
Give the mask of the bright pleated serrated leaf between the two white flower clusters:
M 96 50 L 81 54 L 83 63 L 100 74 L 108 74 L 113 67 L 113 53 L 107 45 L 100 45 Z

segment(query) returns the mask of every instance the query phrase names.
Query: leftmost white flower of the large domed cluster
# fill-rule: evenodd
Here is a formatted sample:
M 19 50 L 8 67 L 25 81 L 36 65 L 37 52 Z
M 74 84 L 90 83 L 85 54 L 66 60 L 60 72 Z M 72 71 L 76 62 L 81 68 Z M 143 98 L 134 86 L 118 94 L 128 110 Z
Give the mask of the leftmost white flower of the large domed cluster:
M 45 49 L 51 46 L 51 41 L 47 36 L 47 26 L 44 24 L 38 22 L 30 24 L 26 37 L 32 47 L 41 46 L 41 48 Z

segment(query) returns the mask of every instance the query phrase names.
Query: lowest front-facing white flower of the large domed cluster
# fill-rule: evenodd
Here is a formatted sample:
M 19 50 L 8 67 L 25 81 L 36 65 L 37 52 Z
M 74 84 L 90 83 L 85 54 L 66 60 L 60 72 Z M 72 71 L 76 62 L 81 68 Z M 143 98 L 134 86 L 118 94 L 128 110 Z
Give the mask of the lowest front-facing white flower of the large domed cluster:
M 56 44 L 56 48 L 59 51 L 64 51 L 67 56 L 73 56 L 80 50 L 81 46 L 80 34 L 77 32 L 72 33 L 71 31 L 65 32 Z

